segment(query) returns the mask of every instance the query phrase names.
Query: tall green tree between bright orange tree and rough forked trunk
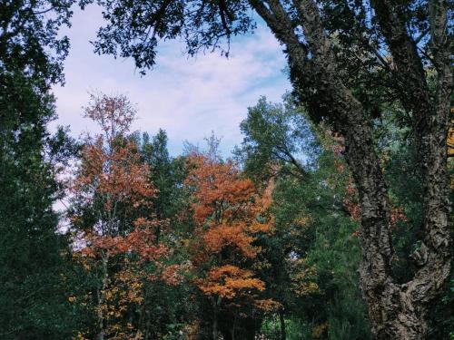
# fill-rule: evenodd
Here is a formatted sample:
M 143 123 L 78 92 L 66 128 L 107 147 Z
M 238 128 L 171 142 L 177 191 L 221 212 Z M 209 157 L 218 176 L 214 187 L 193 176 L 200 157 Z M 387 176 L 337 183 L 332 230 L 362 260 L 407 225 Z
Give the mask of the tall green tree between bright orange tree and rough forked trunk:
M 358 288 L 357 195 L 339 139 L 311 124 L 289 94 L 280 104 L 260 99 L 241 128 L 236 154 L 247 175 L 275 183 L 275 232 L 260 239 L 259 257 L 281 304 L 280 338 L 370 338 Z

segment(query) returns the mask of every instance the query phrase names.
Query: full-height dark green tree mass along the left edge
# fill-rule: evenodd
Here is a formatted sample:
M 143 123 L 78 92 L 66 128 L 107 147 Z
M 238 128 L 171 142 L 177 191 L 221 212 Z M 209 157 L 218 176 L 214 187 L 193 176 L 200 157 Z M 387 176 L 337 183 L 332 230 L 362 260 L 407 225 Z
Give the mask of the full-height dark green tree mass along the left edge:
M 0 337 L 61 339 L 79 316 L 66 298 L 68 239 L 54 203 L 58 176 L 74 151 L 66 131 L 54 136 L 52 83 L 62 82 L 72 1 L 0 4 Z

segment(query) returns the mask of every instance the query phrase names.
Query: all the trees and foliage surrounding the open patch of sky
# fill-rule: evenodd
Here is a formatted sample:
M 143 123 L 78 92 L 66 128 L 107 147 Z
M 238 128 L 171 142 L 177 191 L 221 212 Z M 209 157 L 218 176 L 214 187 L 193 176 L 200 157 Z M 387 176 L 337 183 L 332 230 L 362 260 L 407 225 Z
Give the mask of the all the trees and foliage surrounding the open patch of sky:
M 0 3 L 0 339 L 454 339 L 452 1 L 97 1 L 95 52 L 143 75 L 270 28 L 292 91 L 228 157 L 123 94 L 50 129 L 93 2 Z

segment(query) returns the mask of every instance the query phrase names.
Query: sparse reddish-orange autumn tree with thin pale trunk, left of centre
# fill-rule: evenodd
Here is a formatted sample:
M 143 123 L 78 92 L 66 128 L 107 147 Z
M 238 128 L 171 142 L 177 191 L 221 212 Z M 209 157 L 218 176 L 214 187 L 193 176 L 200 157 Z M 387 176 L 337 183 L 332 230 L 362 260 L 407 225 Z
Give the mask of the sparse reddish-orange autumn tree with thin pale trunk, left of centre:
M 137 338 L 142 332 L 134 311 L 143 312 L 143 285 L 163 274 L 158 259 L 167 248 L 156 241 L 156 232 L 164 226 L 147 214 L 156 190 L 137 145 L 126 138 L 135 115 L 132 104 L 124 96 L 91 99 L 85 116 L 103 134 L 85 141 L 71 187 L 69 218 L 78 249 L 74 256 L 94 276 L 96 287 L 95 296 L 70 299 L 85 304 L 94 300 L 97 339 Z

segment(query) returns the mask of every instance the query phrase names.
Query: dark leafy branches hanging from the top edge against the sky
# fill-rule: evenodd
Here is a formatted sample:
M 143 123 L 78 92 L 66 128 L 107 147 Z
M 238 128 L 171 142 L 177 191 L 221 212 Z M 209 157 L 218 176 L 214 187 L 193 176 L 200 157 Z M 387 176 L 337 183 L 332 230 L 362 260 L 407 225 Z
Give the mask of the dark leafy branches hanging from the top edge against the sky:
M 219 3 L 159 0 L 153 4 L 146 0 L 128 3 L 82 0 L 80 3 L 85 6 L 93 2 L 104 6 L 107 23 L 98 31 L 95 51 L 132 57 L 142 73 L 153 67 L 160 41 L 181 37 L 191 55 L 217 48 L 228 55 L 230 36 L 254 28 L 245 0 Z

